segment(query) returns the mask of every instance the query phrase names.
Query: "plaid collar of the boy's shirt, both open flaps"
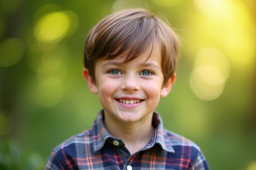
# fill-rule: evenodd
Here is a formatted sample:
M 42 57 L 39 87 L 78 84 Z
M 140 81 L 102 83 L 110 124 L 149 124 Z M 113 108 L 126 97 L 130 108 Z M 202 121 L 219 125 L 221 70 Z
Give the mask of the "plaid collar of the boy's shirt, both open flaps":
M 101 110 L 98 113 L 98 116 L 93 124 L 93 149 L 94 152 L 99 151 L 105 144 L 108 138 L 113 140 L 120 140 L 119 138 L 113 137 L 109 134 L 103 123 L 104 120 L 104 111 Z M 152 125 L 156 128 L 154 135 L 152 136 L 151 141 L 148 143 L 143 150 L 147 150 L 153 147 L 156 143 L 159 144 L 162 149 L 167 152 L 174 153 L 174 149 L 171 145 L 169 136 L 166 133 L 166 130 L 163 128 L 163 122 L 160 115 L 156 112 L 153 113 Z

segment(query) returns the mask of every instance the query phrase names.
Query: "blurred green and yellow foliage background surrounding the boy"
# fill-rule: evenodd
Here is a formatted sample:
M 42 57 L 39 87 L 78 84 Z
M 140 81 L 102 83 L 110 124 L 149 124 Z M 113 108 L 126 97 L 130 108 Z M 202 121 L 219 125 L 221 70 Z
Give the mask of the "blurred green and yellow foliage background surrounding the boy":
M 88 31 L 142 7 L 180 35 L 177 79 L 156 109 L 213 170 L 256 170 L 255 0 L 1 0 L 0 169 L 44 168 L 101 109 L 82 78 Z

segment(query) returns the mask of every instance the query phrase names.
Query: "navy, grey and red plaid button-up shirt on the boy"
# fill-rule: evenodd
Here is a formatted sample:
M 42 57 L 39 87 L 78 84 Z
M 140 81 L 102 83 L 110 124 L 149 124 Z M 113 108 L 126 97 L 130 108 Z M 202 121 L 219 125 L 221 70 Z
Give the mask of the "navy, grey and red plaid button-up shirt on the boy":
M 120 138 L 111 136 L 103 124 L 101 111 L 93 127 L 57 146 L 51 153 L 46 170 L 208 170 L 200 148 L 190 140 L 163 128 L 157 113 L 152 125 L 156 128 L 148 144 L 130 154 Z

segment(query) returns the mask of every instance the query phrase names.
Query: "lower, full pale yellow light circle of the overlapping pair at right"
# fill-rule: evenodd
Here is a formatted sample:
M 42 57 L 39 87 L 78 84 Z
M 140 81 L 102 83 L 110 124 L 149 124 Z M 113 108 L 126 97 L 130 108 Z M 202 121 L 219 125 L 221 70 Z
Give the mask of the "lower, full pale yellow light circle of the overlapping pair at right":
M 225 86 L 222 73 L 217 68 L 208 65 L 195 67 L 189 81 L 192 91 L 202 100 L 217 99 Z

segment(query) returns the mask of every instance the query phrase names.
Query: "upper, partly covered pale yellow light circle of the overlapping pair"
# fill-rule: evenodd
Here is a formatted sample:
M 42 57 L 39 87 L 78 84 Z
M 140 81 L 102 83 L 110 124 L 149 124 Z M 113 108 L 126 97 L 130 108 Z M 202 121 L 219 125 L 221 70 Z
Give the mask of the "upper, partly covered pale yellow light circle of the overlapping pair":
M 202 49 L 195 58 L 194 66 L 208 65 L 220 71 L 224 79 L 230 74 L 230 63 L 228 57 L 216 48 Z

